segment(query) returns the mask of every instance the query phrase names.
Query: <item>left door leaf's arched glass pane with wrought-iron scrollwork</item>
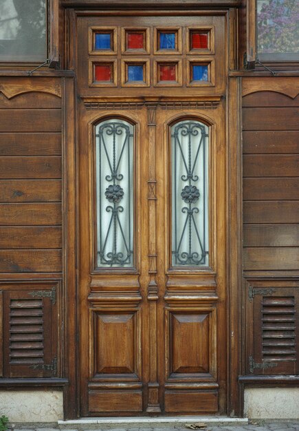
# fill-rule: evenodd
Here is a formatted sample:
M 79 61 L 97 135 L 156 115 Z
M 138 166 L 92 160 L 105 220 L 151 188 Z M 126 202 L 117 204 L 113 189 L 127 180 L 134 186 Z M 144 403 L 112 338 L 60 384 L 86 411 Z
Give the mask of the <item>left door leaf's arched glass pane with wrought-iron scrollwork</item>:
M 133 266 L 133 125 L 96 126 L 98 267 Z

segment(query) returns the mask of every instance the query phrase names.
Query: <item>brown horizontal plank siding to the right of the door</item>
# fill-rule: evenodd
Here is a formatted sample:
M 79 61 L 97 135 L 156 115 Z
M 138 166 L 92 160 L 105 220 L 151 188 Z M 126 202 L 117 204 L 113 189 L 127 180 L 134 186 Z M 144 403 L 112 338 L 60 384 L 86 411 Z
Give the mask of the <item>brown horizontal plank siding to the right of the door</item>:
M 299 269 L 299 96 L 262 90 L 243 97 L 243 264 L 245 271 L 293 271 Z

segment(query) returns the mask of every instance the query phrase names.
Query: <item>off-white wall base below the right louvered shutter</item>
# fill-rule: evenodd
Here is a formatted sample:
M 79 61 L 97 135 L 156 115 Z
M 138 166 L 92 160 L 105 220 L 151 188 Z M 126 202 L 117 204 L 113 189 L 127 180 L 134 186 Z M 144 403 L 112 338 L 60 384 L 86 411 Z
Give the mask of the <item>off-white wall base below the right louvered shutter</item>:
M 299 419 L 299 388 L 247 388 L 244 414 L 252 419 Z

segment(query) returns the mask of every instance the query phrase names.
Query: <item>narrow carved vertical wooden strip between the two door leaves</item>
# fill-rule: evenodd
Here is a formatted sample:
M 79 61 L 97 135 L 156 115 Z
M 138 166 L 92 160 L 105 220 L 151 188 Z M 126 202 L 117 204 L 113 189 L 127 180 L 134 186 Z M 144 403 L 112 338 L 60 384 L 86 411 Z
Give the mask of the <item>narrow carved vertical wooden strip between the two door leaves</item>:
M 157 244 L 156 244 L 156 109 L 148 105 L 148 260 L 150 277 L 147 299 L 149 304 L 149 355 L 150 381 L 148 383 L 148 406 L 146 412 L 161 412 L 159 406 L 159 383 L 157 381 Z

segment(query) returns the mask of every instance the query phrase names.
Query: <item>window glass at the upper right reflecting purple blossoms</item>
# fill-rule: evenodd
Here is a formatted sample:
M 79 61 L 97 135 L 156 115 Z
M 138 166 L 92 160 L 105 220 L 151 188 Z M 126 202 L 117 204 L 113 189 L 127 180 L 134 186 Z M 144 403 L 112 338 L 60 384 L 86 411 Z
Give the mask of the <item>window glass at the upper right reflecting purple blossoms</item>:
M 299 59 L 299 1 L 257 0 L 258 58 Z

